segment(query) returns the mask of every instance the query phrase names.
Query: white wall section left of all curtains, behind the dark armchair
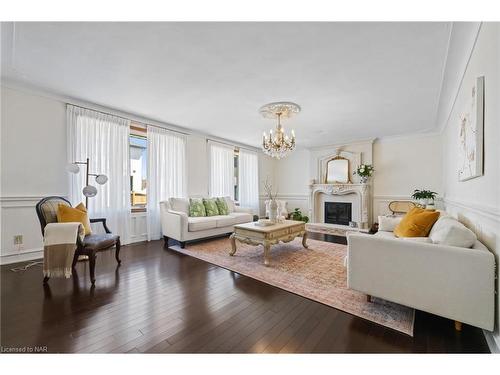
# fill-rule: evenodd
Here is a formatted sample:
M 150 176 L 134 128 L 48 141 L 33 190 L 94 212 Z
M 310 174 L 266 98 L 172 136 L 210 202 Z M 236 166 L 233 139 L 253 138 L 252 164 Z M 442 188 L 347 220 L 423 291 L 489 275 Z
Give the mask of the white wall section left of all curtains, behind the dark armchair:
M 1 255 L 29 256 L 41 248 L 35 204 L 48 195 L 68 195 L 64 103 L 1 91 Z M 22 247 L 13 236 L 24 237 Z

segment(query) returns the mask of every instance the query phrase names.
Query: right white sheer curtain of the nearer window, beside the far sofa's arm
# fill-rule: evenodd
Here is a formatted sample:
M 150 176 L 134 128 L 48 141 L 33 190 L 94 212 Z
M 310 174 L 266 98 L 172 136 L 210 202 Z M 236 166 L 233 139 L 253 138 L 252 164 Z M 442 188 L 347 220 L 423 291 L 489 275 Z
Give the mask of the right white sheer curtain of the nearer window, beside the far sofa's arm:
M 161 238 L 160 202 L 184 197 L 186 191 L 186 138 L 148 126 L 148 240 Z

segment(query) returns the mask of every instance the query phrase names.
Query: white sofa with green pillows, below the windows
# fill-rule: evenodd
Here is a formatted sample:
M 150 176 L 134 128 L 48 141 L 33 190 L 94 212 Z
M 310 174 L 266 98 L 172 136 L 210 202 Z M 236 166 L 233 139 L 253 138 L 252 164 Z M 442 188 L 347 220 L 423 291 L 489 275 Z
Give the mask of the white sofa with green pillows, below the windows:
M 160 202 L 161 229 L 165 246 L 168 239 L 180 242 L 182 248 L 186 241 L 220 236 L 233 232 L 235 224 L 253 221 L 252 209 L 235 206 L 229 197 L 225 198 L 229 215 L 190 217 L 189 199 L 170 198 Z

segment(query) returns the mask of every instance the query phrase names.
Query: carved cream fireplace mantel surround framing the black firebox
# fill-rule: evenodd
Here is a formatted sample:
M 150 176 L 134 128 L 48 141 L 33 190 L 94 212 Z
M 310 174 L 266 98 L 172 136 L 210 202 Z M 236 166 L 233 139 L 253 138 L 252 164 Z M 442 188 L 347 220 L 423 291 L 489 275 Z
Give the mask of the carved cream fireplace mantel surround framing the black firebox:
M 369 225 L 369 197 L 370 197 L 370 185 L 369 184 L 311 184 L 309 185 L 310 195 L 309 195 L 309 207 L 310 213 L 309 217 L 312 222 L 316 222 L 317 213 L 321 208 L 318 207 L 319 200 L 317 199 L 318 194 L 327 195 L 346 195 L 346 194 L 356 194 L 359 199 L 359 217 L 360 217 L 360 228 L 367 228 Z

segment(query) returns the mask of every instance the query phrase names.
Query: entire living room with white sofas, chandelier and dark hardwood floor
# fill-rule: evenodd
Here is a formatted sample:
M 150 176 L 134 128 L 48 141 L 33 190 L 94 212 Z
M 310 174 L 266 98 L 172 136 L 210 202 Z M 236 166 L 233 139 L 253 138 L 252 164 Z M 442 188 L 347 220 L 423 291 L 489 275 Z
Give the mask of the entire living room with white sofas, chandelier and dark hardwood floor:
M 15 19 L 2 353 L 499 352 L 499 23 Z

